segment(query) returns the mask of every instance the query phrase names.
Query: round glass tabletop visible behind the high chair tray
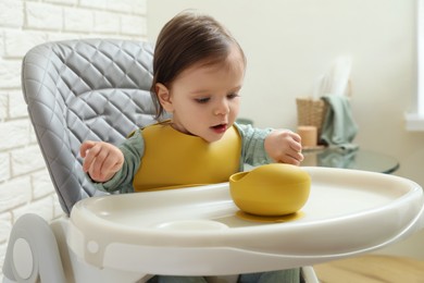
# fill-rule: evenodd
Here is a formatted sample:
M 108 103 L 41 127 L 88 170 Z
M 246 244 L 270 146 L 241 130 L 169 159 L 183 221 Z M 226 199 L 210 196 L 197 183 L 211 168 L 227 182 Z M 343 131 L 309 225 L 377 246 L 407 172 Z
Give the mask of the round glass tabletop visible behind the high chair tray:
M 366 149 L 342 150 L 324 147 L 302 151 L 302 167 L 327 167 L 356 169 L 379 173 L 392 173 L 399 168 L 395 158 Z

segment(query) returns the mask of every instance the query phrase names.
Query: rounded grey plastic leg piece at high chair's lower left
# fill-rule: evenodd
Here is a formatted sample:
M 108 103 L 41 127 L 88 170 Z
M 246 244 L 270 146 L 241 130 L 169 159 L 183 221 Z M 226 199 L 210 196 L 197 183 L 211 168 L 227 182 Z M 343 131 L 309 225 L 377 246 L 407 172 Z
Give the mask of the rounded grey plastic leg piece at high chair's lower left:
M 39 216 L 24 214 L 13 225 L 3 274 L 16 282 L 66 282 L 54 234 Z

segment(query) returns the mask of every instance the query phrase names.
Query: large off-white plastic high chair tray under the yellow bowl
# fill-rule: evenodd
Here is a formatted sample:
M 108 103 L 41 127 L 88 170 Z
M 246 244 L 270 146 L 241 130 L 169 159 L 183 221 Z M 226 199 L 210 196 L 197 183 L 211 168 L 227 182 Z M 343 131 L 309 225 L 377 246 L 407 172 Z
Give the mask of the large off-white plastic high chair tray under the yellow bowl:
M 423 192 L 410 180 L 303 169 L 312 179 L 311 195 L 291 220 L 244 219 L 227 183 L 92 197 L 73 208 L 68 245 L 100 268 L 235 274 L 367 253 L 423 226 Z

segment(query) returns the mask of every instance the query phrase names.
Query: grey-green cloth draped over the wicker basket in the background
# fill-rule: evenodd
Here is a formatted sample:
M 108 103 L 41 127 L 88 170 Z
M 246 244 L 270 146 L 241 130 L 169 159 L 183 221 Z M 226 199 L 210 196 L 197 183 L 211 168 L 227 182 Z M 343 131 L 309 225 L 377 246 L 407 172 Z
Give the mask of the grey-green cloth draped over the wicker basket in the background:
M 339 95 L 326 95 L 322 99 L 327 104 L 327 112 L 321 130 L 321 143 L 347 150 L 358 148 L 353 138 L 358 133 L 358 125 L 353 121 L 349 99 Z

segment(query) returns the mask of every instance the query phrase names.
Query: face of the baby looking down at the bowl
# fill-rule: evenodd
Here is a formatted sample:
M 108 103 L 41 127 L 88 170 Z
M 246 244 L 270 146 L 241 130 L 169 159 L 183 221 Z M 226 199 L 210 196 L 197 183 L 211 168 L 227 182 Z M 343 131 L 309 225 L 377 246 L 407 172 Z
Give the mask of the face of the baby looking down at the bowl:
M 225 63 L 194 65 L 170 88 L 173 124 L 179 132 L 212 143 L 222 138 L 237 118 L 245 62 L 233 48 Z

